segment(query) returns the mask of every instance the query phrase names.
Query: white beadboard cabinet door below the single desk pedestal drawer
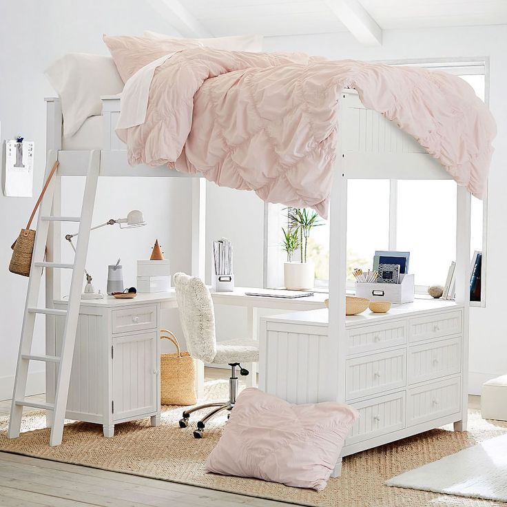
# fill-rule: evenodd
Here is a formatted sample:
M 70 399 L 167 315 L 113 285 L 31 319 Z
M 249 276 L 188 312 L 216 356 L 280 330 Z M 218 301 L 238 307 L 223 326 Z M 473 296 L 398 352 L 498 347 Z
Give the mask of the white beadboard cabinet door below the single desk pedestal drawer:
M 113 347 L 113 420 L 156 411 L 156 331 L 114 338 Z

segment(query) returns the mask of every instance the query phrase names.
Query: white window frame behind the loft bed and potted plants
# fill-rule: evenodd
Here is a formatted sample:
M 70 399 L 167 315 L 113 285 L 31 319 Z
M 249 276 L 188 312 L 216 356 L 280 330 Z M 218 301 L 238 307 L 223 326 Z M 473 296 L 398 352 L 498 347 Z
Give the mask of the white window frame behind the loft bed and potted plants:
M 480 57 L 455 57 L 455 58 L 432 58 L 432 59 L 396 59 L 373 61 L 373 63 L 384 63 L 386 65 L 408 65 L 423 67 L 430 70 L 445 70 L 457 76 L 484 74 L 484 103 L 489 105 L 490 94 L 490 61 L 488 56 Z M 397 243 L 397 181 L 389 180 L 389 249 L 395 250 Z M 265 227 L 264 227 L 264 287 L 269 287 L 270 279 L 273 276 L 269 274 L 269 266 L 272 262 L 279 264 L 280 257 L 273 258 L 273 245 L 268 244 L 267 238 L 270 234 L 269 221 L 274 212 L 273 205 L 265 203 Z M 487 265 L 487 238 L 488 238 L 488 182 L 486 182 L 486 196 L 482 201 L 482 289 L 481 300 L 471 301 L 472 307 L 486 307 L 486 265 Z M 272 273 L 272 271 L 271 271 Z M 276 284 L 278 286 L 278 283 Z M 327 292 L 328 284 L 320 283 L 315 285 L 315 291 Z M 353 280 L 349 280 L 346 285 L 347 291 L 354 290 Z M 417 295 L 427 294 L 428 286 L 416 285 L 415 293 Z

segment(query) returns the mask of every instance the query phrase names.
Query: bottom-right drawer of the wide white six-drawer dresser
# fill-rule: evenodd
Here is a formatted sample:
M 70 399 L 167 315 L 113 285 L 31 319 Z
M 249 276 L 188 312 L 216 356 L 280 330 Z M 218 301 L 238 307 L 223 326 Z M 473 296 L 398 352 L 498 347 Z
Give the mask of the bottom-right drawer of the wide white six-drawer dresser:
M 432 382 L 426 386 L 408 389 L 407 396 L 407 425 L 415 426 L 459 412 L 461 382 L 459 377 Z

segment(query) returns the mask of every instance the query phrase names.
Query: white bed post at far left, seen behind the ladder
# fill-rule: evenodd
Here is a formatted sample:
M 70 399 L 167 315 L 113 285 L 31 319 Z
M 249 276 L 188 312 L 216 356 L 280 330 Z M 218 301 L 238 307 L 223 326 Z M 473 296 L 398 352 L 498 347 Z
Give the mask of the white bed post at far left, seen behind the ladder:
M 46 150 L 61 149 L 62 114 L 61 102 L 57 98 L 45 99 L 46 102 Z M 56 154 L 56 157 L 58 155 Z M 61 215 L 61 176 L 58 171 L 54 174 L 54 194 L 52 215 Z M 48 262 L 60 262 L 61 250 L 61 225 L 51 221 L 48 228 L 48 241 L 46 243 L 45 260 Z M 45 306 L 53 307 L 53 301 L 61 298 L 61 276 L 59 269 L 45 269 Z M 56 331 L 53 315 L 45 316 L 45 353 L 56 355 Z M 45 366 L 45 399 L 48 403 L 54 403 L 56 390 L 56 365 L 46 363 Z M 46 411 L 46 426 L 52 425 L 53 411 Z

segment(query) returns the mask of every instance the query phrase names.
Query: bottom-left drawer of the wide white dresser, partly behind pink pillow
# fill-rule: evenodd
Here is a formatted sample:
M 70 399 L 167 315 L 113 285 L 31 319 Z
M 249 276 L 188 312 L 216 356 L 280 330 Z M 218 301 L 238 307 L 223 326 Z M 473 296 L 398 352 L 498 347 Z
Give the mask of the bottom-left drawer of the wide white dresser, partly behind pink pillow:
M 405 391 L 353 403 L 359 412 L 345 445 L 355 444 L 405 427 Z

